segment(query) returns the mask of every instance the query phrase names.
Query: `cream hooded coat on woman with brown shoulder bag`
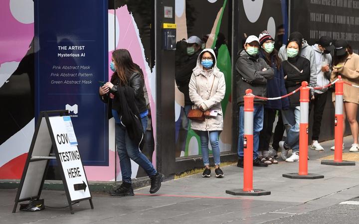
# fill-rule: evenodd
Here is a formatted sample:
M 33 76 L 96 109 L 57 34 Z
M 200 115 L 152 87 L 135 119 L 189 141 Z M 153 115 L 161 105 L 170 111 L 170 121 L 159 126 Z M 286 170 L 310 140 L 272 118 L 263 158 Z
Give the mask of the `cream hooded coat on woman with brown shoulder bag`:
M 212 49 L 204 49 L 209 51 L 215 57 Z M 202 53 L 201 53 L 202 54 Z M 217 116 L 211 116 L 204 121 L 191 121 L 191 128 L 193 130 L 213 131 L 223 130 L 223 112 L 221 101 L 225 94 L 225 80 L 224 75 L 214 64 L 213 68 L 204 71 L 200 64 L 200 55 L 197 59 L 197 66 L 193 69 L 191 79 L 189 81 L 189 98 L 192 101 L 193 109 L 199 108 L 199 105 L 204 111 L 218 111 Z M 217 60 L 215 59 L 215 62 Z M 213 84 L 213 87 L 212 87 Z M 211 90 L 212 87 L 212 91 Z

